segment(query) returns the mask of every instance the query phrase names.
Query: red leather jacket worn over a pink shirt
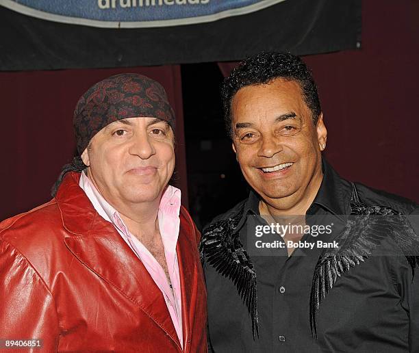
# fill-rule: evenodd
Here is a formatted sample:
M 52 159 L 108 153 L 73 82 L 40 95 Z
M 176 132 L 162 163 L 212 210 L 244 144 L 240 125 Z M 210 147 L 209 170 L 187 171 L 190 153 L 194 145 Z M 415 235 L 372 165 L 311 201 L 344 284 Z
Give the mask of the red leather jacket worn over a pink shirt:
M 160 289 L 75 172 L 0 223 L 0 339 L 42 339 L 34 352 L 207 352 L 199 232 L 183 207 L 180 220 L 183 350 Z

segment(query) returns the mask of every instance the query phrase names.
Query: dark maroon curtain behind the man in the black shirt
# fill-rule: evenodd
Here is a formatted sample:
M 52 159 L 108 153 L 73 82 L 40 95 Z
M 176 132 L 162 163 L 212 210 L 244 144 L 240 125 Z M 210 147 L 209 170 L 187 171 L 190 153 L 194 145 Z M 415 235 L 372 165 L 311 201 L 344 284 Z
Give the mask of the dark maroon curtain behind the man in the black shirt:
M 419 202 L 419 1 L 363 1 L 362 48 L 303 57 L 342 177 Z M 227 75 L 237 63 L 219 64 Z

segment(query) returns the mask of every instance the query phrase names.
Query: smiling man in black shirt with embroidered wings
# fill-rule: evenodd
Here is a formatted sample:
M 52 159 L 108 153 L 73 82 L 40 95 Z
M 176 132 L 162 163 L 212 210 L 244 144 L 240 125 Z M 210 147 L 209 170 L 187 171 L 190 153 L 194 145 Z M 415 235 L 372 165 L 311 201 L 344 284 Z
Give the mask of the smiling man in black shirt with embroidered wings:
M 249 57 L 222 95 L 252 190 L 203 231 L 209 350 L 419 352 L 418 205 L 322 158 L 327 130 L 299 57 Z

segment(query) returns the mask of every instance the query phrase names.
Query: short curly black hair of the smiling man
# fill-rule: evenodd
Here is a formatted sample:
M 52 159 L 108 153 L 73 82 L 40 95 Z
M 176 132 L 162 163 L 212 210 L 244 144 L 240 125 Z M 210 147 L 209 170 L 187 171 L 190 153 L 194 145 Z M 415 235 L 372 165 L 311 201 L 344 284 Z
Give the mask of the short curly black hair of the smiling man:
M 290 53 L 264 51 L 248 57 L 231 71 L 221 84 L 225 127 L 232 137 L 231 100 L 233 96 L 246 86 L 271 83 L 275 79 L 285 79 L 299 83 L 303 91 L 303 99 L 312 112 L 314 125 L 322 112 L 318 99 L 317 87 L 312 73 L 300 57 Z

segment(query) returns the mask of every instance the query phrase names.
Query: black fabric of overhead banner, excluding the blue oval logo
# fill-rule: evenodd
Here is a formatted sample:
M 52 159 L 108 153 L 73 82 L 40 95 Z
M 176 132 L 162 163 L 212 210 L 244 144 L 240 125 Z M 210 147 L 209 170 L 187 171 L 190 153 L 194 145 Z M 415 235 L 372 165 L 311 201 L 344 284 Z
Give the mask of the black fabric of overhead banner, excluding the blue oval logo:
M 359 47 L 361 0 L 286 0 L 210 23 L 105 29 L 55 23 L 0 6 L 0 70 L 103 68 L 304 55 Z

